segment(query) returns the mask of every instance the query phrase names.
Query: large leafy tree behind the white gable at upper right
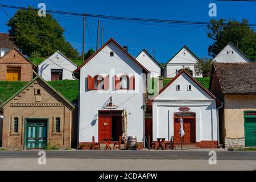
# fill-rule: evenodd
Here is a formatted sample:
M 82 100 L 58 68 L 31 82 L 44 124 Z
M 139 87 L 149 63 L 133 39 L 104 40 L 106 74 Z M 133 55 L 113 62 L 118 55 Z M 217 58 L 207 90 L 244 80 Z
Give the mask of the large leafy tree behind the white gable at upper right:
M 210 23 L 208 37 L 214 40 L 208 48 L 210 56 L 215 57 L 226 44 L 232 42 L 235 45 L 238 43 L 238 48 L 251 60 L 256 60 L 256 33 L 249 27 L 249 20 L 237 22 L 236 19 L 212 19 Z

